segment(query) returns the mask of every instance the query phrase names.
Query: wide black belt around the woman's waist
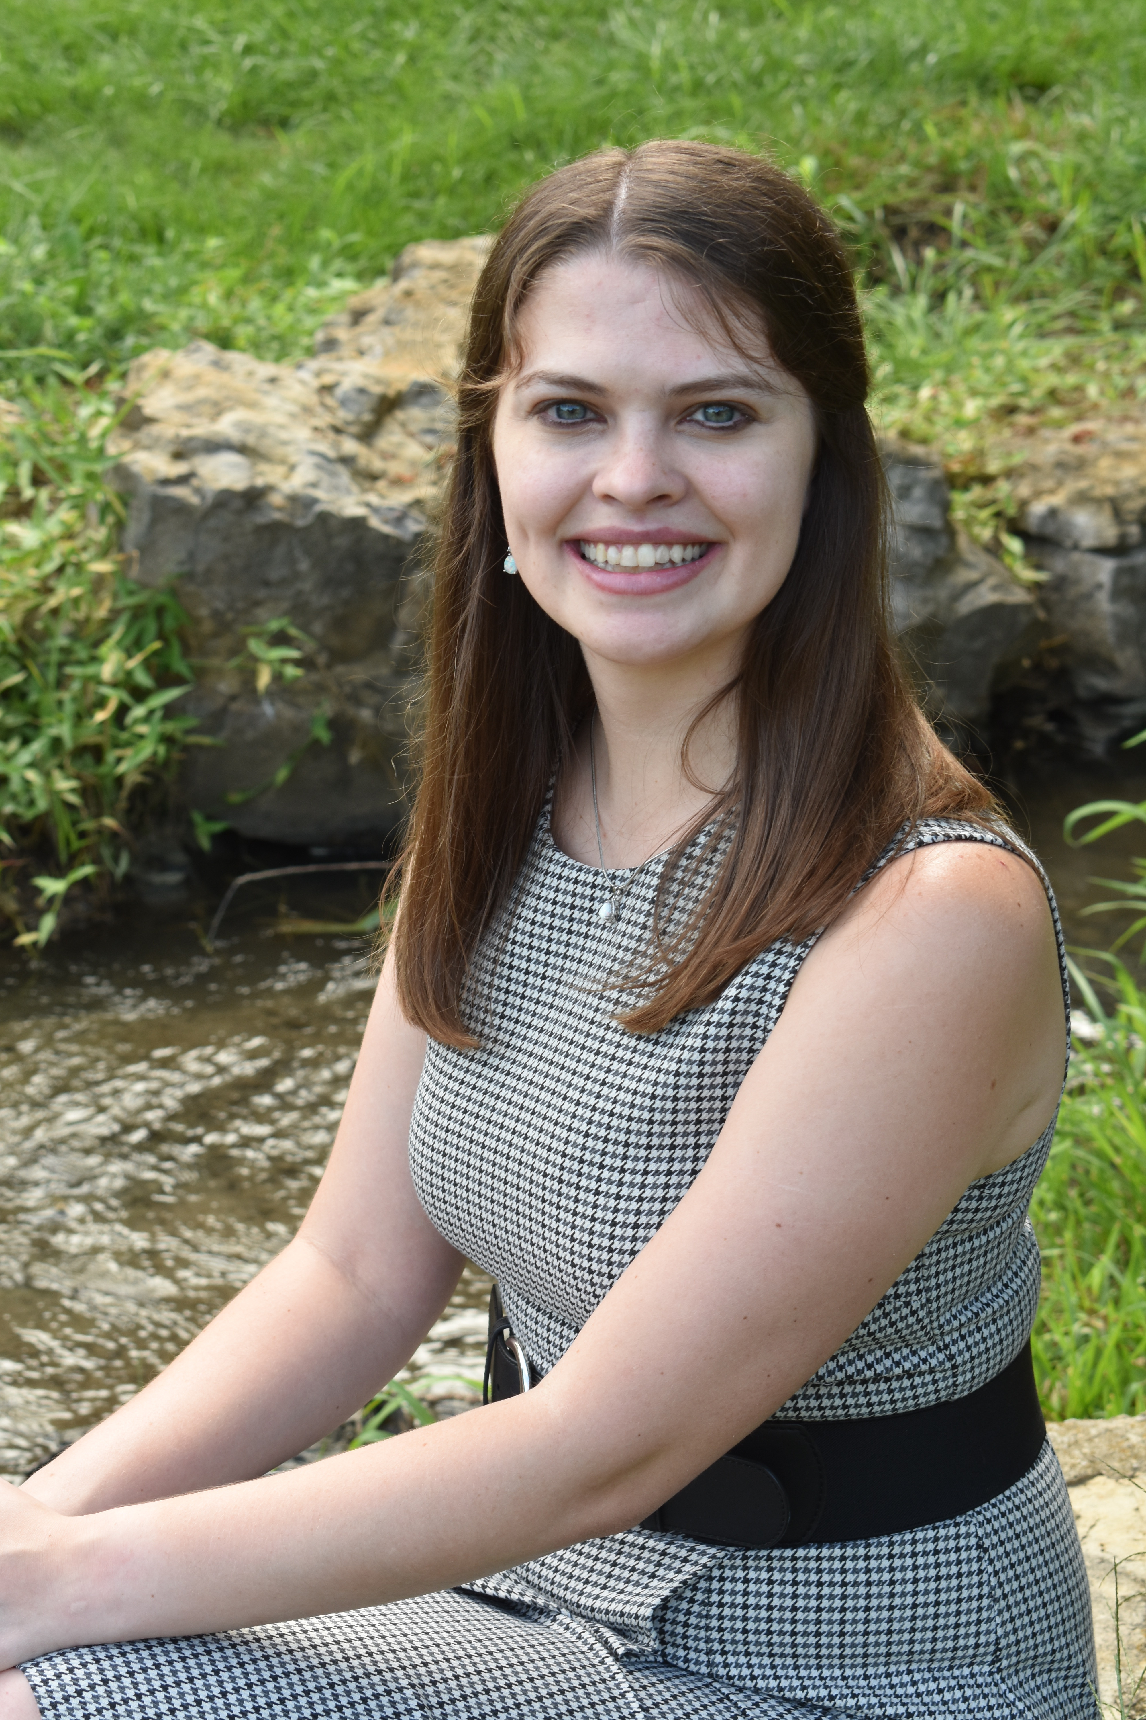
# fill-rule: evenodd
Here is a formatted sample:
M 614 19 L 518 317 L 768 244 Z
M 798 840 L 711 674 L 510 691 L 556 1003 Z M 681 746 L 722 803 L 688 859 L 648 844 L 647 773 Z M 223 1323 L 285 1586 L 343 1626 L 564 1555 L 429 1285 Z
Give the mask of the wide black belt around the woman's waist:
M 490 1297 L 485 1402 L 529 1390 L 529 1361 Z M 1005 1493 L 1043 1448 L 1031 1345 L 978 1391 L 861 1421 L 765 1421 L 646 1517 L 720 1546 L 869 1541 L 960 1517 Z

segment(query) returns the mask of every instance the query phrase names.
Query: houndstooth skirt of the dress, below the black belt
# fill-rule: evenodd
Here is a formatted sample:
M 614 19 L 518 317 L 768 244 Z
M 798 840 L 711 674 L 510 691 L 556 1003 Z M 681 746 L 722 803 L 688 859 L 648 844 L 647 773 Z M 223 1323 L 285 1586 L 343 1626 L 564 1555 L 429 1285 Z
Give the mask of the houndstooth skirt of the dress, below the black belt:
M 682 1582 L 641 1613 L 649 1541 Z M 577 1555 L 615 1582 L 558 1605 Z M 636 1529 L 469 1589 L 22 1670 L 45 1720 L 1098 1720 L 1050 1445 L 988 1505 L 905 1534 L 741 1551 Z

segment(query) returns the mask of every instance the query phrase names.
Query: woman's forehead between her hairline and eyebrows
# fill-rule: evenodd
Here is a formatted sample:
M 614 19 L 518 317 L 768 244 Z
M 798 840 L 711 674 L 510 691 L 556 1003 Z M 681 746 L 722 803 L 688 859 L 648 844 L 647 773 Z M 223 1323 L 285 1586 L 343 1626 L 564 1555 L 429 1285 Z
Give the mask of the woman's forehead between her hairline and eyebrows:
M 660 366 L 703 365 L 706 370 L 739 370 L 746 359 L 773 378 L 763 318 L 751 318 L 728 306 L 735 339 L 720 327 L 706 296 L 667 270 L 591 251 L 543 270 L 533 282 L 512 330 L 514 368 L 519 375 L 536 366 L 546 370 L 584 368 L 588 351 L 625 368 L 641 363 Z M 581 354 L 577 365 L 567 363 Z

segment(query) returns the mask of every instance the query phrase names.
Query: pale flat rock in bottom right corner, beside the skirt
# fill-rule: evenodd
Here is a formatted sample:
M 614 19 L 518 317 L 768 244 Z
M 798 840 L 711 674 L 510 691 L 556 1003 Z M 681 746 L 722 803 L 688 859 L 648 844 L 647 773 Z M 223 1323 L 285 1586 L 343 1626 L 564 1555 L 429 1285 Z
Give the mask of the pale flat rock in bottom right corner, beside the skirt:
M 1094 1610 L 1098 1687 L 1117 1715 L 1117 1662 L 1129 1720 L 1146 1715 L 1146 1416 L 1064 1421 L 1046 1428 L 1070 1490 Z M 1117 1563 L 1117 1591 L 1115 1591 Z M 1117 1629 L 1115 1629 L 1117 1612 Z M 1131 1692 L 1136 1692 L 1131 1696 Z

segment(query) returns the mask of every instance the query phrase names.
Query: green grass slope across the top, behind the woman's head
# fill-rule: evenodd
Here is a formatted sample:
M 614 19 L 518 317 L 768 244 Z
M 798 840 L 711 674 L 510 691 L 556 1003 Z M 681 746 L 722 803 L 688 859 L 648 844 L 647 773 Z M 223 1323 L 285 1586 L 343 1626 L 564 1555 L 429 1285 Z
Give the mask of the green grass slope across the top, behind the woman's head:
M 1057 396 L 1055 341 L 1143 330 L 1137 0 L 9 0 L 0 55 L 9 351 L 292 354 L 407 241 L 665 134 L 770 148 L 828 201 L 917 428 L 936 358 L 955 378 L 1002 341 Z M 979 368 L 981 397 L 1026 394 Z

